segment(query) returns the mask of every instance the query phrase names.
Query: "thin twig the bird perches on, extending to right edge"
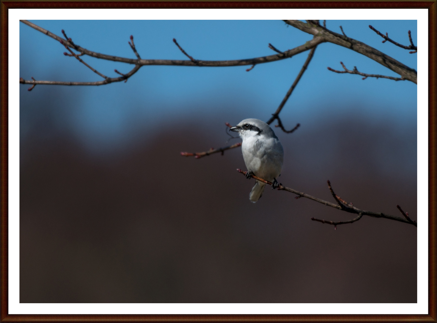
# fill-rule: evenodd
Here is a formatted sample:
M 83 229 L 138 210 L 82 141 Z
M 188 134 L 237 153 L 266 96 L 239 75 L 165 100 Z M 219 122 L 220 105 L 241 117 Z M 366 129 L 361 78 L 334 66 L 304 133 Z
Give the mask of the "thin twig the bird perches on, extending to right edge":
M 243 170 L 240 170 L 239 168 L 237 168 L 237 171 L 239 173 L 242 173 L 243 175 L 246 175 L 246 173 L 247 173 L 247 172 L 245 172 Z M 254 179 L 259 180 L 259 181 L 261 181 L 261 182 L 263 182 L 263 183 L 265 183 L 267 185 L 273 185 L 272 182 L 269 182 L 268 180 L 264 180 L 264 179 L 262 179 L 260 177 L 255 176 L 255 175 L 251 174 L 250 177 L 253 177 Z M 321 203 L 321 204 L 324 204 L 326 206 L 330 206 L 330 207 L 336 208 L 336 209 L 341 210 L 341 211 L 346 211 L 348 213 L 358 214 L 357 218 L 354 218 L 354 219 L 349 220 L 349 221 L 334 222 L 334 221 L 327 221 L 327 220 L 320 220 L 320 219 L 311 218 L 313 221 L 319 221 L 319 222 L 322 222 L 322 223 L 337 225 L 337 224 L 353 223 L 353 222 L 358 221 L 359 219 L 361 219 L 361 217 L 363 215 L 368 215 L 368 216 L 373 217 L 373 218 L 385 218 L 385 219 L 389 219 L 389 220 L 394 220 L 394 221 L 404 222 L 404 223 L 408 223 L 408 224 L 413 224 L 415 227 L 417 227 L 416 221 L 411 221 L 411 219 L 407 220 L 407 219 L 404 219 L 404 218 L 399 218 L 399 217 L 396 217 L 394 215 L 385 214 L 385 213 L 382 213 L 382 212 L 364 211 L 364 210 L 361 210 L 361 209 L 359 209 L 357 207 L 354 207 L 351 203 L 347 203 L 346 201 L 344 201 L 343 199 L 341 199 L 338 195 L 336 195 L 334 193 L 334 191 L 333 191 L 333 189 L 331 187 L 331 183 L 329 182 L 329 180 L 328 180 L 328 187 L 329 187 L 329 190 L 331 191 L 331 194 L 333 194 L 333 197 L 336 200 L 337 204 L 334 204 L 334 203 L 331 203 L 331 202 L 328 202 L 328 201 L 324 201 L 324 200 L 319 199 L 317 197 L 313 197 L 311 195 L 299 192 L 298 190 L 293 190 L 292 188 L 285 187 L 282 184 L 279 184 L 279 187 L 277 187 L 277 190 L 285 190 L 287 192 L 290 192 L 290 193 L 298 195 L 298 197 L 295 197 L 295 198 L 306 197 L 306 198 L 308 198 L 308 199 L 310 199 L 312 201 L 316 201 L 318 203 Z M 361 214 L 361 216 L 360 216 L 360 214 Z

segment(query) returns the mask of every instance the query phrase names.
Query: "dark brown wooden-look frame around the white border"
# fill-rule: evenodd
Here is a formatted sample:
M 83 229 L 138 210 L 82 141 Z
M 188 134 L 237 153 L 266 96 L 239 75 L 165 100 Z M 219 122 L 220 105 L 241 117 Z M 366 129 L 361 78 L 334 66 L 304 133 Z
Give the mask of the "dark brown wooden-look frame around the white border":
M 12 315 L 8 314 L 8 9 L 12 8 L 427 8 L 429 214 L 427 315 Z M 0 1 L 0 322 L 437 322 L 436 0 L 432 1 Z M 17 80 L 18 82 L 18 80 Z

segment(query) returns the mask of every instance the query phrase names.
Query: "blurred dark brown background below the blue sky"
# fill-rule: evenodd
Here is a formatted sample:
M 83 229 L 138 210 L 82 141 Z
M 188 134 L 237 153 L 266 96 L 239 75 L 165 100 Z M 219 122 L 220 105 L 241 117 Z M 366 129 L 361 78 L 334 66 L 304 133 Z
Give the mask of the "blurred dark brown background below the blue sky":
M 224 122 L 253 116 L 138 126 L 93 154 L 56 123 L 64 99 L 34 102 L 21 138 L 21 303 L 416 303 L 412 225 L 365 216 L 334 231 L 310 218 L 354 215 L 270 189 L 250 203 L 240 148 L 180 156 L 225 146 Z M 274 130 L 284 185 L 333 201 L 329 179 L 357 207 L 416 219 L 415 122 L 333 112 Z

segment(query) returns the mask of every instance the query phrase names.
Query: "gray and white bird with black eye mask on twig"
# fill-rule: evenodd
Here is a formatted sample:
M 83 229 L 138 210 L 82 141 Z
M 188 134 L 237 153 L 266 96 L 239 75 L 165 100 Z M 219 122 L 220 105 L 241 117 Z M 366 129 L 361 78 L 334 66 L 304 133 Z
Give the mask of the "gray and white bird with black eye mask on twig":
M 284 162 L 284 149 L 270 126 L 258 119 L 244 119 L 230 129 L 239 133 L 243 143 L 244 163 L 246 164 L 246 177 L 250 174 L 273 182 L 273 188 L 278 186 L 276 177 L 281 174 Z M 253 203 L 263 195 L 265 183 L 257 180 L 249 194 L 249 200 Z

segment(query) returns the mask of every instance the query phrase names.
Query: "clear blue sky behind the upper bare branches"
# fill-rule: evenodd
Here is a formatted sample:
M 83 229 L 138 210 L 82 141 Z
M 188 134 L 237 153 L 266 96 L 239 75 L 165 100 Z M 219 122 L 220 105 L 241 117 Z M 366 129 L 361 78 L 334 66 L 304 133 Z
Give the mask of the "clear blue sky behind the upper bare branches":
M 173 44 L 173 37 L 197 59 L 227 60 L 274 54 L 268 43 L 280 50 L 294 48 L 311 39 L 281 20 L 31 20 L 62 36 L 61 29 L 80 46 L 104 54 L 135 58 L 128 45 L 134 36 L 142 58 L 186 59 Z M 371 24 L 401 44 L 409 44 L 411 30 L 416 44 L 416 20 L 327 20 L 326 27 L 383 51 L 403 64 L 417 69 L 416 54 L 398 48 L 371 31 Z M 20 77 L 37 80 L 98 81 L 101 78 L 75 58 L 62 53 L 65 48 L 50 37 L 20 24 Z M 55 122 L 86 146 L 111 146 L 129 140 L 132 123 L 156 130 L 163 122 L 181 118 L 204 120 L 222 130 L 224 122 L 235 124 L 243 118 L 264 121 L 273 113 L 295 76 L 307 52 L 291 59 L 249 66 L 198 68 L 145 66 L 127 83 L 99 87 L 56 87 L 38 85 L 28 92 L 20 87 L 21 136 L 32 127 L 35 108 L 32 102 L 50 101 Z M 115 77 L 132 66 L 83 57 L 84 61 Z M 297 122 L 311 125 L 315 120 L 344 112 L 359 112 L 378 120 L 416 122 L 417 88 L 409 81 L 358 75 L 336 74 L 357 66 L 370 74 L 398 76 L 370 58 L 334 44 L 321 44 L 308 70 L 285 105 L 281 117 L 288 127 Z M 62 88 L 62 89 L 61 89 Z M 73 106 L 73 108 L 70 107 Z M 32 110 L 33 109 L 33 110 Z M 93 148 L 94 149 L 94 148 Z

